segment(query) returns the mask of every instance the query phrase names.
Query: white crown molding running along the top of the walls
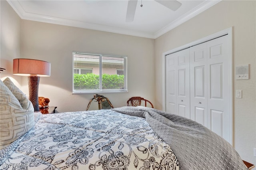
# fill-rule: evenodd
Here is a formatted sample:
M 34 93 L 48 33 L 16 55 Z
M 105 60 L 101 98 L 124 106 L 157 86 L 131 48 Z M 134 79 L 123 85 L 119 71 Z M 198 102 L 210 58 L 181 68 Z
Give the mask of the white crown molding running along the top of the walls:
M 64 18 L 57 18 L 52 16 L 45 16 L 45 15 L 39 15 L 34 13 L 26 12 L 20 3 L 18 1 L 14 0 L 7 0 L 7 2 L 10 4 L 10 6 L 14 9 L 14 11 L 20 16 L 23 20 L 32 20 L 37 22 L 46 22 L 50 24 L 59 24 L 64 26 L 72 26 L 72 27 L 78 27 L 78 28 L 86 28 L 90 30 L 98 30 L 98 31 L 104 31 L 104 32 L 112 32 L 117 34 L 124 34 L 129 36 L 138 36 L 138 37 L 144 37 L 144 38 L 151 38 L 156 39 L 166 32 L 172 30 L 173 28 L 179 26 L 180 24 L 186 22 L 187 20 L 193 18 L 194 16 L 200 14 L 204 10 L 207 10 L 211 6 L 217 4 L 221 0 L 206 0 L 204 3 L 200 4 L 193 10 L 190 10 L 180 18 L 176 19 L 174 22 L 168 24 L 164 28 L 158 30 L 155 33 L 147 33 L 147 32 L 141 32 L 136 30 L 128 30 L 124 28 L 114 28 L 111 26 L 104 26 L 100 24 L 92 24 L 92 23 L 86 23 L 86 22 L 80 22 L 76 20 L 68 20 Z

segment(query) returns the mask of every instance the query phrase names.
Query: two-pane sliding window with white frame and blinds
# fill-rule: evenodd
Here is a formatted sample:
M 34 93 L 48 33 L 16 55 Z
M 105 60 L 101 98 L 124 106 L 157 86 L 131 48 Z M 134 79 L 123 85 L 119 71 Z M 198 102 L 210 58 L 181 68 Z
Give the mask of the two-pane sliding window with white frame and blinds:
M 73 52 L 73 93 L 127 91 L 126 56 Z

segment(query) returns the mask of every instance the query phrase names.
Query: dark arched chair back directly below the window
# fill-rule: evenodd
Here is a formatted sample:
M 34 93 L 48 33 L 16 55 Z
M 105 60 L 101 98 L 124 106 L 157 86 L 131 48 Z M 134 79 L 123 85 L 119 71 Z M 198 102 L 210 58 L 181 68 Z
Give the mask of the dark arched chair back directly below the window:
M 98 102 L 99 110 L 100 109 L 113 109 L 114 108 L 113 105 L 111 104 L 111 102 L 108 100 L 107 97 L 95 94 L 95 95 L 93 95 L 93 98 L 88 103 L 86 111 L 88 111 L 92 101 Z

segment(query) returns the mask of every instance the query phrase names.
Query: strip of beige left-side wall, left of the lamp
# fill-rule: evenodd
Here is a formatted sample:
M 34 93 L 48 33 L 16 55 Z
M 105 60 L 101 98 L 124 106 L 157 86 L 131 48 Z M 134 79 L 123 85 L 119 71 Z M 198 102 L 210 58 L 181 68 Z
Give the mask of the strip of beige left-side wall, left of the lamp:
M 21 87 L 21 77 L 12 74 L 12 60 L 20 58 L 21 19 L 8 2 L 1 0 L 0 6 L 0 67 L 6 69 L 0 73 L 0 78 L 14 77 L 12 81 Z

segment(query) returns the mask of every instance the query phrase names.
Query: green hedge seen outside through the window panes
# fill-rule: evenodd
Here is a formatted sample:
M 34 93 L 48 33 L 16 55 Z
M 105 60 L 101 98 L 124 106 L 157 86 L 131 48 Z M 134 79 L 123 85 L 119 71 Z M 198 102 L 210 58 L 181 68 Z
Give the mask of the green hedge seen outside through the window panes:
M 94 73 L 74 74 L 75 90 L 99 89 L 100 76 Z M 124 89 L 124 75 L 102 74 L 102 89 Z

